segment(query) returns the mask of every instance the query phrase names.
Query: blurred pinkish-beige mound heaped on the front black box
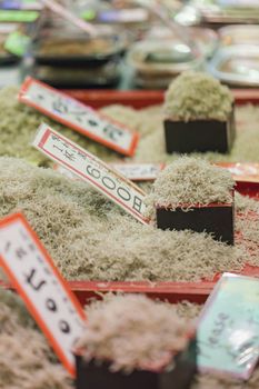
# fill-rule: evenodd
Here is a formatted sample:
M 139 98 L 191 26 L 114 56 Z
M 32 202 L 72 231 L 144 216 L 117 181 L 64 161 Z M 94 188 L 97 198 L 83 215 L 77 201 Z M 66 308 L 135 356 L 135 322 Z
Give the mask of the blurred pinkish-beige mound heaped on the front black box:
M 87 360 L 110 360 L 112 370 L 160 369 L 186 348 L 188 331 L 190 326 L 168 303 L 111 295 L 88 309 L 78 346 Z

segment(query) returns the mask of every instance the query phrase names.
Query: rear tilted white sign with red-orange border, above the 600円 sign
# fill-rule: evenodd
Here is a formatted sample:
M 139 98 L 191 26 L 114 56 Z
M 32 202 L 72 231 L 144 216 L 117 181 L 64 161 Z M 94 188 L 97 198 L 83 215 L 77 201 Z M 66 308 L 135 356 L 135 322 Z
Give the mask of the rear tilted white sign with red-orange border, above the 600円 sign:
M 135 153 L 139 140 L 137 132 L 43 82 L 27 78 L 18 98 L 19 101 L 121 154 L 131 157 Z

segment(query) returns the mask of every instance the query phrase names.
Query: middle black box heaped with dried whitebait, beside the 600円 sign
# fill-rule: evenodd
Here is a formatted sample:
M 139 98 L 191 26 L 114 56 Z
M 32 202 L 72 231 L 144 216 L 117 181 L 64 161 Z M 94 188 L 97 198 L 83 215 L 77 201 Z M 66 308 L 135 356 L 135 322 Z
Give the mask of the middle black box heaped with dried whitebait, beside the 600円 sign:
M 207 232 L 233 245 L 233 188 L 227 169 L 185 156 L 159 173 L 146 198 L 147 217 L 162 230 Z

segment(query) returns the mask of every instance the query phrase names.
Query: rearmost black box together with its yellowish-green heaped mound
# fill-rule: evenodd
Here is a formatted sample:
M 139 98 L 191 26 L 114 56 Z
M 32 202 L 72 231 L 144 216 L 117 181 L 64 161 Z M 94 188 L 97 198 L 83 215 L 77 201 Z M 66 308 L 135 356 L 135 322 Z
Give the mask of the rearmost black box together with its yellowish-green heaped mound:
M 187 72 L 166 93 L 163 121 L 168 153 L 227 153 L 236 138 L 235 106 L 227 87 L 212 77 Z

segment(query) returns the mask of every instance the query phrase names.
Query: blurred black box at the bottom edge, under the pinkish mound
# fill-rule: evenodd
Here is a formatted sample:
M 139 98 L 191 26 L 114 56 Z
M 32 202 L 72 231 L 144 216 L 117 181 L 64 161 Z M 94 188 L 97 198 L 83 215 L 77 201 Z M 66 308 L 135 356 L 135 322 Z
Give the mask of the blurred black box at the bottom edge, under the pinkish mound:
M 163 372 L 111 372 L 109 363 L 86 362 L 80 355 L 76 363 L 77 389 L 189 389 L 197 372 L 197 343 L 191 339 L 188 349 L 173 358 L 171 370 Z

